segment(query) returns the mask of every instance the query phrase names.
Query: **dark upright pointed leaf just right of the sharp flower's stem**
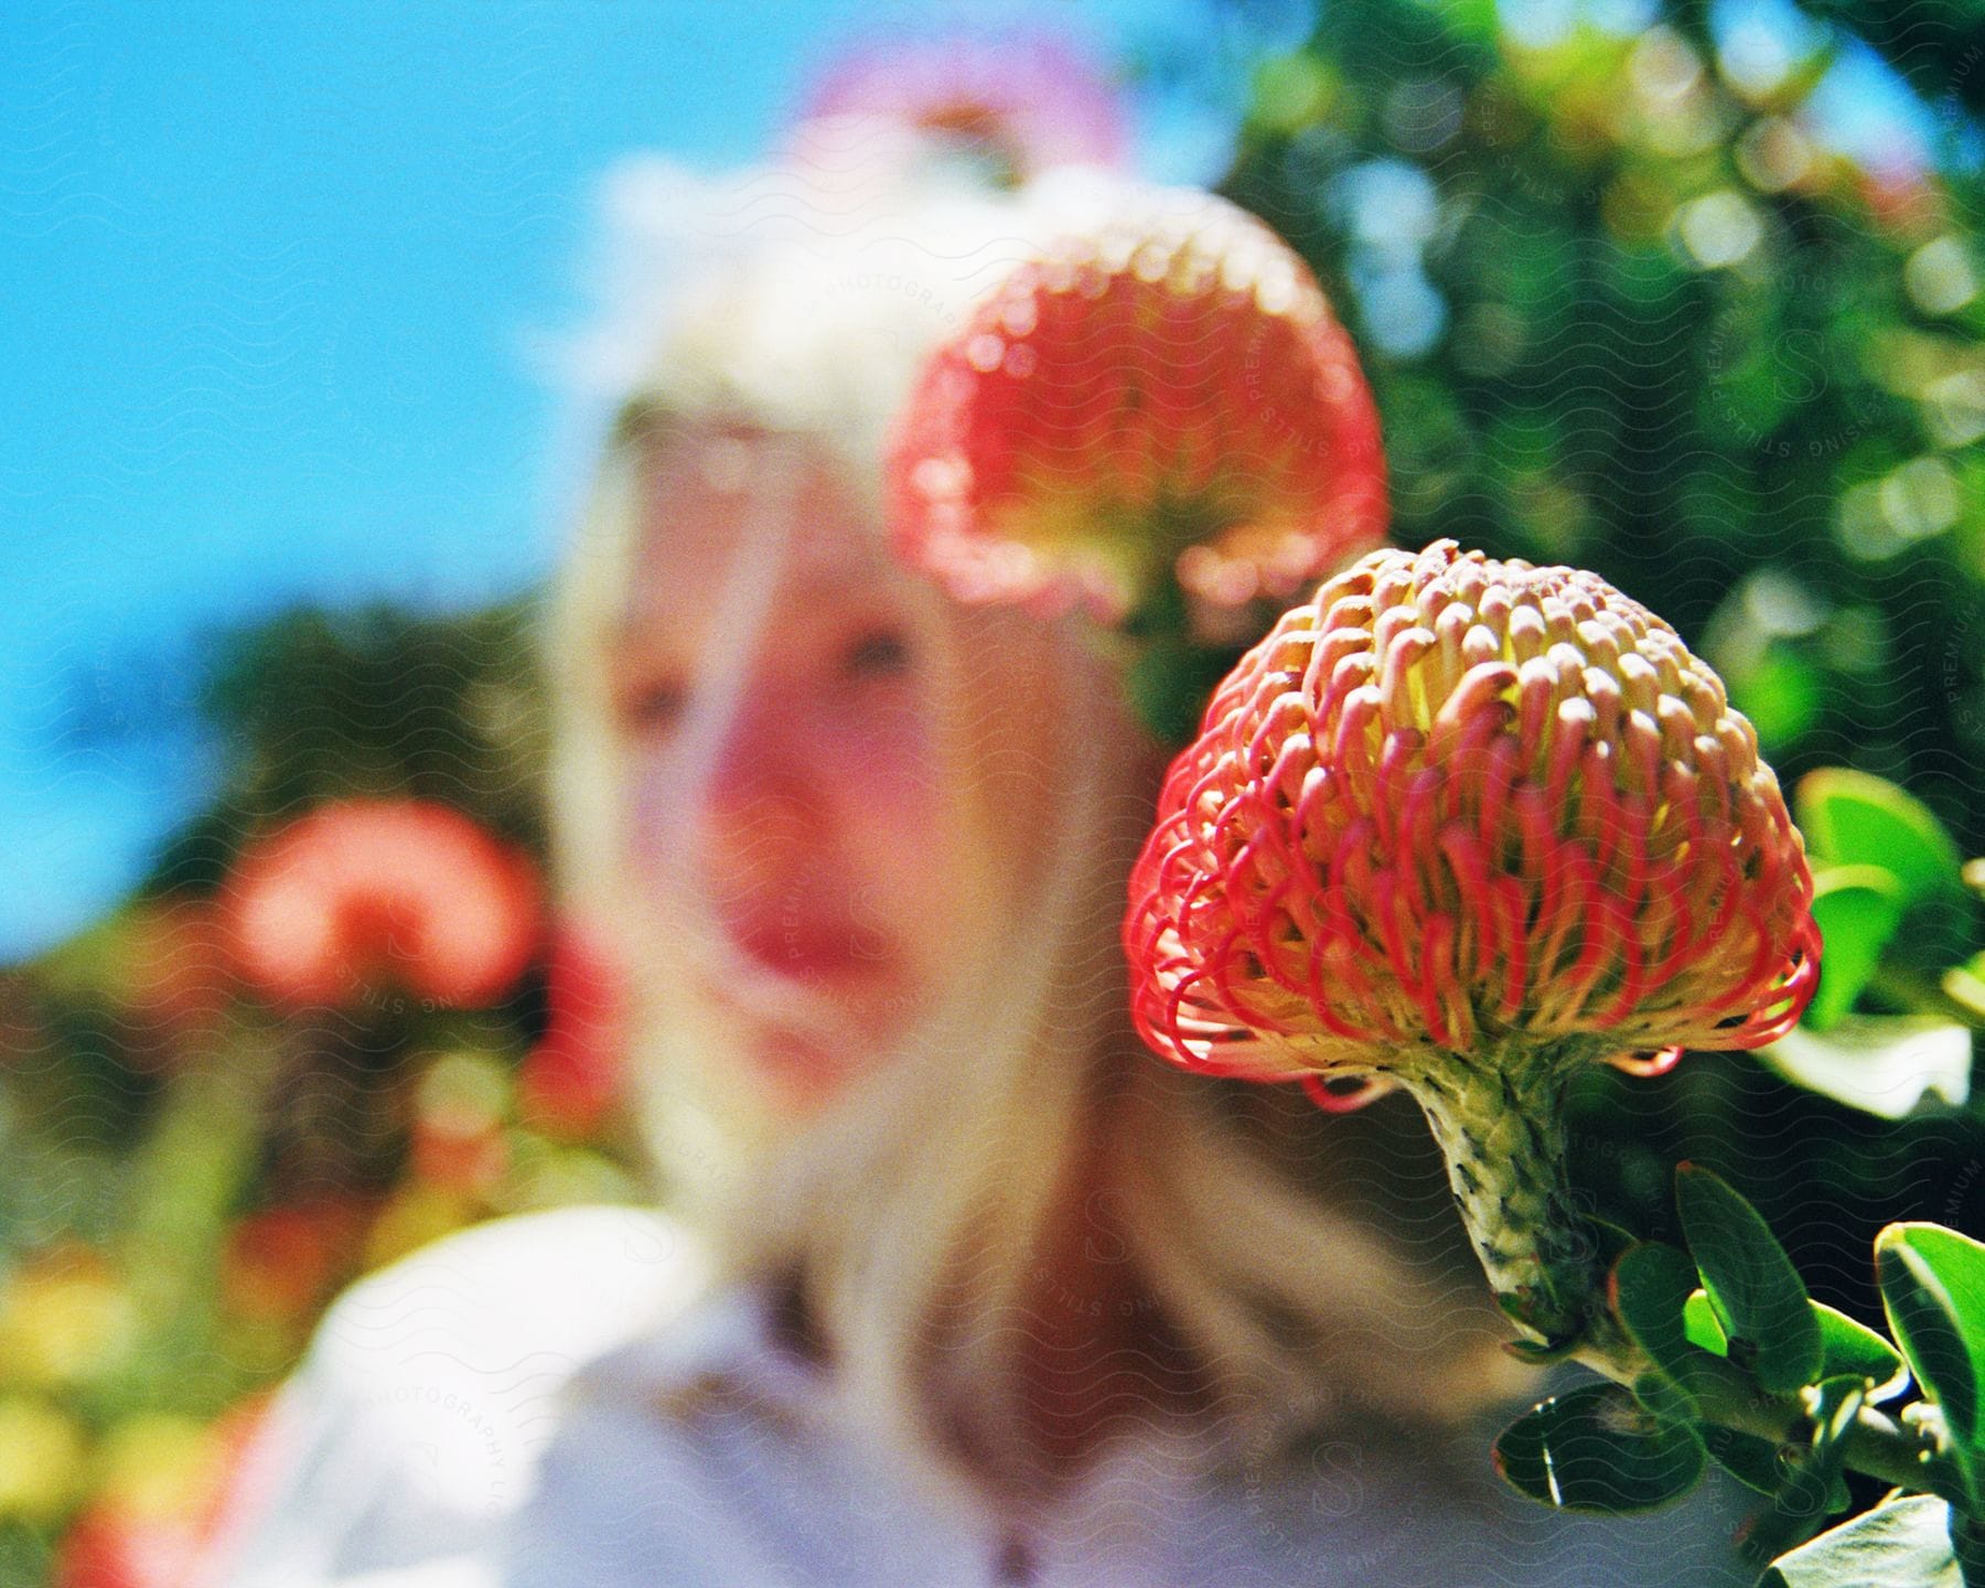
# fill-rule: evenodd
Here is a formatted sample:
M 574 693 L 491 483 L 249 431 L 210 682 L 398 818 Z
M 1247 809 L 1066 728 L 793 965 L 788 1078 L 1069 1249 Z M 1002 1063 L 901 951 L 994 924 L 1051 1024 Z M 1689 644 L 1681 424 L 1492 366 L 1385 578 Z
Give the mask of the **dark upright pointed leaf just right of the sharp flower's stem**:
M 1810 1384 L 1820 1372 L 1820 1324 L 1771 1227 L 1721 1177 L 1687 1163 L 1675 1171 L 1675 1201 L 1703 1290 L 1731 1342 L 1727 1354 L 1751 1358 L 1759 1386 L 1773 1393 Z

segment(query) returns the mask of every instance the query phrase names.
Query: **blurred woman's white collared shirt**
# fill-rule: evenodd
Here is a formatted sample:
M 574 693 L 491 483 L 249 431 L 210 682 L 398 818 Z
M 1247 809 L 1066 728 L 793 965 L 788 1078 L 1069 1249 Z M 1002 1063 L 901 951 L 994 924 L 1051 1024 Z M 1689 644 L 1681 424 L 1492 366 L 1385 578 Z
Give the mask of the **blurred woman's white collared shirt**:
M 353 1288 L 278 1395 L 212 1588 L 1711 1588 L 1741 1507 L 1590 1521 L 1393 1441 L 1209 1475 L 1114 1445 L 1002 1532 L 863 1437 L 657 1213 L 482 1225 Z

